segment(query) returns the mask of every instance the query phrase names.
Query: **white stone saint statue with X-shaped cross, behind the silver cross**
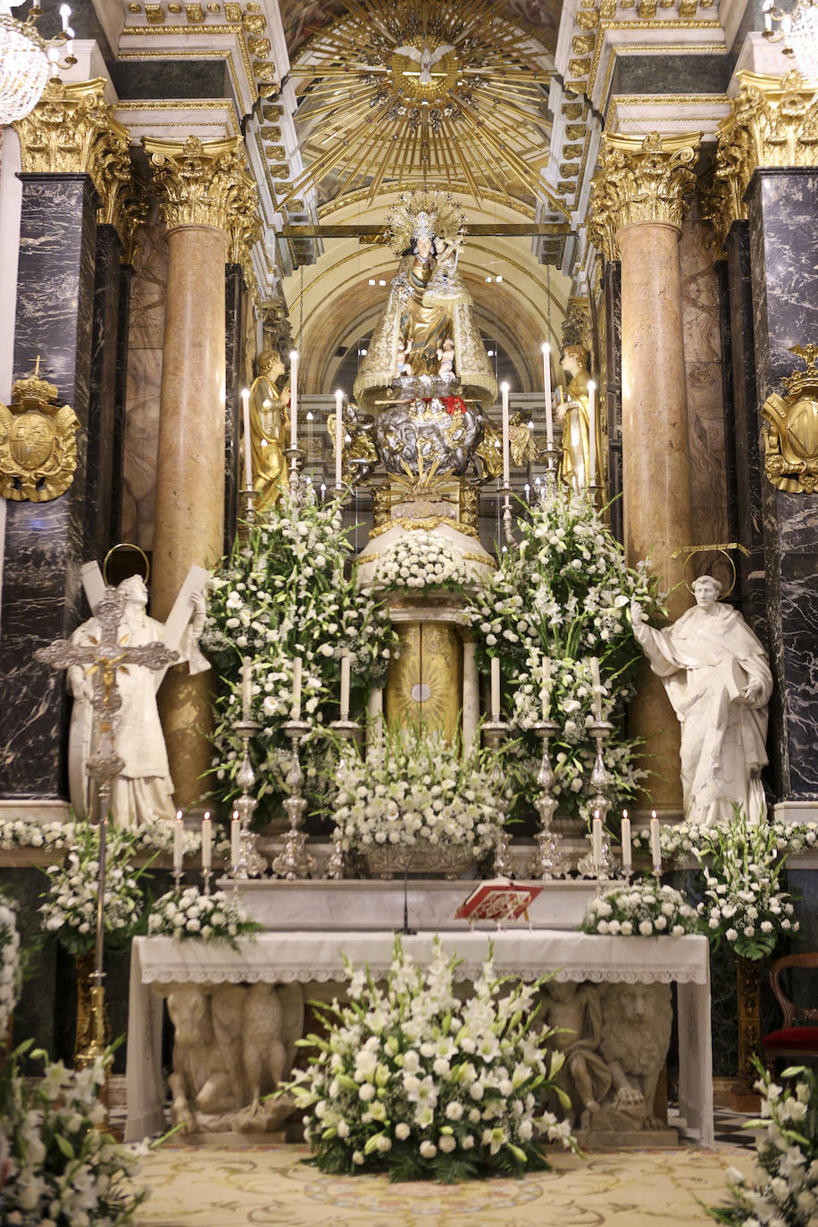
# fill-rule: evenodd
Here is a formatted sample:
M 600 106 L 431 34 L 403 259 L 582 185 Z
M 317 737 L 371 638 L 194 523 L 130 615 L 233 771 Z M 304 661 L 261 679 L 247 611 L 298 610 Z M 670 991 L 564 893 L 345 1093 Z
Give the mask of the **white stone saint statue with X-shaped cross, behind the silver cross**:
M 130 647 L 167 643 L 167 626 L 148 617 L 147 588 L 139 575 L 130 575 L 119 584 L 125 595 L 123 620 L 117 631 L 117 640 Z M 202 593 L 190 594 L 193 616 L 178 644 L 179 663 L 188 661 L 191 672 L 200 672 L 210 665 L 197 648 L 205 625 L 205 598 Z M 88 618 L 71 636 L 80 645 L 93 643 L 99 637 L 99 623 Z M 151 818 L 173 818 L 173 780 L 168 767 L 168 753 L 156 703 L 164 670 L 158 674 L 141 665 L 125 664 L 117 670 L 117 686 L 121 698 L 120 721 L 115 734 L 117 753 L 124 762 L 121 773 L 114 780 L 112 810 L 118 826 L 134 827 Z M 86 817 L 90 809 L 88 757 L 93 723 L 93 679 L 82 665 L 69 669 L 69 690 L 74 696 L 69 731 L 69 793 L 77 817 Z

